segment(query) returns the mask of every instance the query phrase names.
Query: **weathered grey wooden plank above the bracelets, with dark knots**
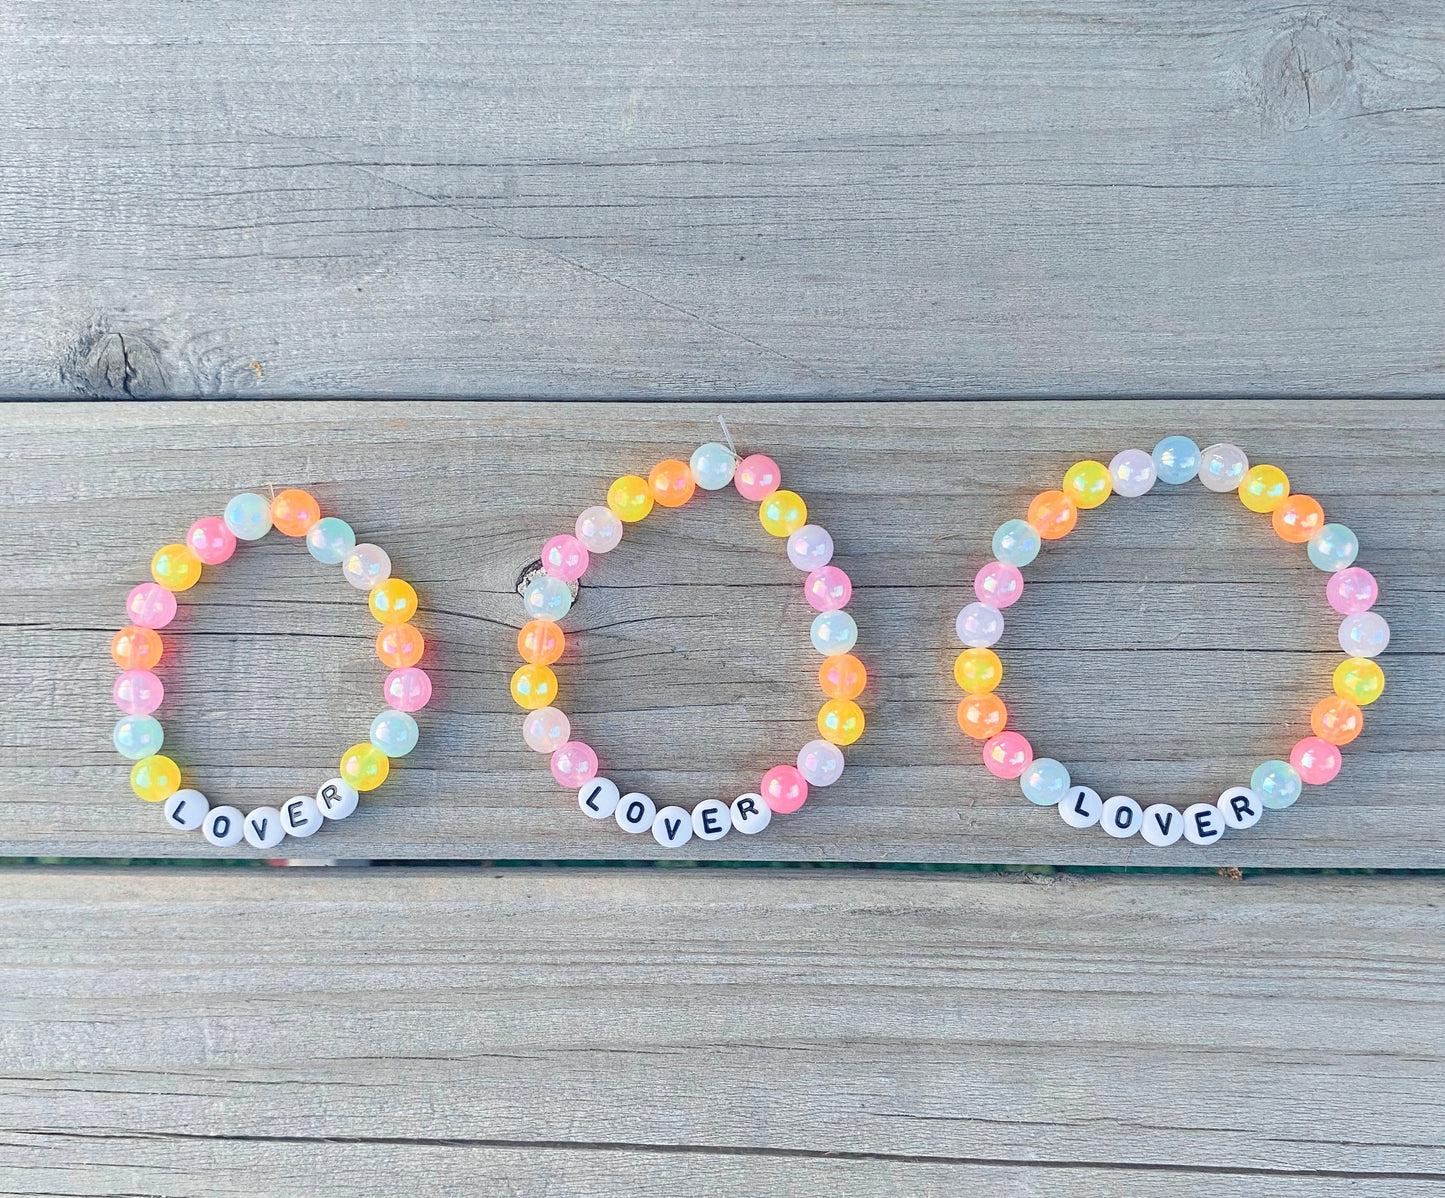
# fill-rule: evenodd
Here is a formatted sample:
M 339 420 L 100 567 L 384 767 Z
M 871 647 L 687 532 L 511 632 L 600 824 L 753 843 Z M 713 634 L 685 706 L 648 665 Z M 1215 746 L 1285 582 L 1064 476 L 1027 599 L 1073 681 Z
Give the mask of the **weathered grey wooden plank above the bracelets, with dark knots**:
M 1438 393 L 1438 26 L 9 4 L 0 393 Z

